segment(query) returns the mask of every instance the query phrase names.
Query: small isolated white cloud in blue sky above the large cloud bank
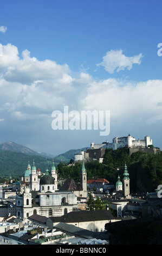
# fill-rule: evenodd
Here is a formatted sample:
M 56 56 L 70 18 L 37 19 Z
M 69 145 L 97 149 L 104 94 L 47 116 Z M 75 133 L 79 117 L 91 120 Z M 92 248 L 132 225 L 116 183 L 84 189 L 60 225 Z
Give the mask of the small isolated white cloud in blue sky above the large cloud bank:
M 96 66 L 103 66 L 107 72 L 113 74 L 115 70 L 117 72 L 126 68 L 131 70 L 133 64 L 141 64 L 141 58 L 141 53 L 138 56 L 126 57 L 122 50 L 111 50 L 106 53 L 106 56 L 103 56 L 103 61 Z

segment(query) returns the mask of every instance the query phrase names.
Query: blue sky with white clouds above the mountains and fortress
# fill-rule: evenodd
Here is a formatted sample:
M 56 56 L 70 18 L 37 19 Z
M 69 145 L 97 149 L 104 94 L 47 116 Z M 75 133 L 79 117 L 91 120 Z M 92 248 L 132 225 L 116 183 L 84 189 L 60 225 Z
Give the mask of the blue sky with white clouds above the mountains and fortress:
M 161 0 L 1 0 L 0 143 L 59 155 L 130 134 L 162 149 L 161 8 Z M 102 112 L 109 132 L 101 135 L 99 120 L 83 129 L 83 111 Z

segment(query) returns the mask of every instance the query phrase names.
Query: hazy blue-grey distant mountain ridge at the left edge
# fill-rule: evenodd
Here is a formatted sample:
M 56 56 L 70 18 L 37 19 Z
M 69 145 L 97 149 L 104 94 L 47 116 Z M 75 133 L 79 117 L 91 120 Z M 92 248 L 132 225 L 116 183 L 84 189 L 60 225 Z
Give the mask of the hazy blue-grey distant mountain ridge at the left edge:
M 47 154 L 47 153 L 44 153 L 44 152 L 36 152 L 33 149 L 27 148 L 23 145 L 15 143 L 15 142 L 0 143 L 0 149 L 8 150 L 8 151 L 14 151 L 14 152 L 17 152 L 17 153 L 24 153 L 24 154 L 28 154 L 28 155 L 55 157 L 55 155 Z

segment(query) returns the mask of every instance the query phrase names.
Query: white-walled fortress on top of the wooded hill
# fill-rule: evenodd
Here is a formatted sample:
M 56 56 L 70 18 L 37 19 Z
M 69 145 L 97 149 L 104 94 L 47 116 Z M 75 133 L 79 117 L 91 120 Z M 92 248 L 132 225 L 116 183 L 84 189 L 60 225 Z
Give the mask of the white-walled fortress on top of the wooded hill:
M 101 144 L 94 144 L 93 142 L 90 144 L 90 149 L 87 149 L 86 152 L 81 152 L 81 154 L 74 155 L 74 161 L 79 161 L 84 157 L 85 161 L 87 160 L 99 160 L 102 162 L 103 155 L 105 154 L 106 149 L 116 150 L 119 148 L 129 148 L 129 155 L 137 151 L 141 151 L 143 153 L 152 153 L 159 154 L 160 149 L 155 148 L 152 145 L 152 139 L 150 136 L 145 136 L 144 139 L 135 139 L 131 135 L 125 137 L 114 137 L 111 143 L 102 142 Z

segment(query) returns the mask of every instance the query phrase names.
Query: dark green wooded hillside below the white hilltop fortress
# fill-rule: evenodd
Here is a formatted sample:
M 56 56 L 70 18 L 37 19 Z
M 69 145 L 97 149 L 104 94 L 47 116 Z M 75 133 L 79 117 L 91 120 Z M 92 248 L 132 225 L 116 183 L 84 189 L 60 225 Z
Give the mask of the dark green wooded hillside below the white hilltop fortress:
M 105 178 L 111 184 L 118 180 L 118 174 L 122 180 L 127 165 L 131 193 L 152 192 L 162 184 L 162 154 L 133 153 L 129 156 L 129 149 L 106 150 L 103 163 L 98 161 L 86 162 L 87 179 Z M 59 176 L 73 178 L 77 182 L 80 179 L 81 163 L 75 166 L 60 163 L 58 166 Z

